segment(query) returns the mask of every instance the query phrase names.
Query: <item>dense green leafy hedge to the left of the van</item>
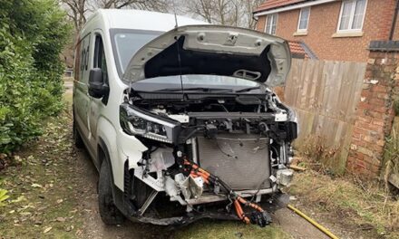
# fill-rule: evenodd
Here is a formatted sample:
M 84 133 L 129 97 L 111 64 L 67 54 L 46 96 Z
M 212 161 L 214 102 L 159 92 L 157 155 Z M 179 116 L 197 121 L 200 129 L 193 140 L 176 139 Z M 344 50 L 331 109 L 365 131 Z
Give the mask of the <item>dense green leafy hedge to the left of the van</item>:
M 59 54 L 70 24 L 54 0 L 0 0 L 0 153 L 42 132 L 62 109 Z

